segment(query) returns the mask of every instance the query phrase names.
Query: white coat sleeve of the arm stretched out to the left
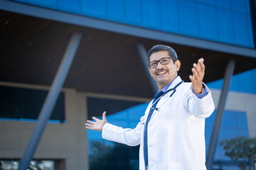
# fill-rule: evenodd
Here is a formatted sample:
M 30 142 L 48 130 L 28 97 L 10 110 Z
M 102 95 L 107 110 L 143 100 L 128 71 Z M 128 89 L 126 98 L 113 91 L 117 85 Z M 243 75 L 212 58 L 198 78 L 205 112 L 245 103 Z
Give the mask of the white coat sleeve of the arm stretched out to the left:
M 102 138 L 129 146 L 137 146 L 140 144 L 143 127 L 144 125 L 142 121 L 138 123 L 137 127 L 134 129 L 121 128 L 116 125 L 106 123 L 102 129 Z

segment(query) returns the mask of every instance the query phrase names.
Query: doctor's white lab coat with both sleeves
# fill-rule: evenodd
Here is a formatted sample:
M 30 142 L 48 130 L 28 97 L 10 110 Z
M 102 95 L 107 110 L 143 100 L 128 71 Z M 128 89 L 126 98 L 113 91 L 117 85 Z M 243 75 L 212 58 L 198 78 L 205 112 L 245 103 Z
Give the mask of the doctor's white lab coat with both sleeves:
M 181 81 L 174 79 L 169 89 Z M 206 86 L 206 85 L 205 85 Z M 177 87 L 176 93 L 163 96 L 156 107 L 148 125 L 149 170 L 205 170 L 205 118 L 214 111 L 213 98 L 206 87 L 207 96 L 198 98 L 191 89 L 191 83 Z M 152 103 L 152 101 L 151 101 Z M 106 123 L 102 138 L 129 146 L 140 145 L 139 169 L 144 167 L 144 123 L 151 103 L 146 108 L 137 127 L 120 128 Z

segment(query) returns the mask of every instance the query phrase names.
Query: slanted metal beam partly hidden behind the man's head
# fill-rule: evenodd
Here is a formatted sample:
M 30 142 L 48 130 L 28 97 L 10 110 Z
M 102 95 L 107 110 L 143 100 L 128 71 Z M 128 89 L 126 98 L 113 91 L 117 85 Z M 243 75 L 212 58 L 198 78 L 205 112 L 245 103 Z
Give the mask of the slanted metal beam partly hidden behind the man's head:
M 144 47 L 144 45 L 142 44 L 137 44 L 136 45 L 136 50 L 139 53 L 139 58 L 142 62 L 144 71 L 146 73 L 146 77 L 149 79 L 149 84 L 151 86 L 152 91 L 154 92 L 154 94 L 157 93 L 157 91 L 159 91 L 159 87 L 156 84 L 156 81 L 154 81 L 154 79 L 151 77 L 151 75 L 149 74 L 149 66 L 148 66 L 148 60 L 147 60 L 147 52 L 146 49 Z

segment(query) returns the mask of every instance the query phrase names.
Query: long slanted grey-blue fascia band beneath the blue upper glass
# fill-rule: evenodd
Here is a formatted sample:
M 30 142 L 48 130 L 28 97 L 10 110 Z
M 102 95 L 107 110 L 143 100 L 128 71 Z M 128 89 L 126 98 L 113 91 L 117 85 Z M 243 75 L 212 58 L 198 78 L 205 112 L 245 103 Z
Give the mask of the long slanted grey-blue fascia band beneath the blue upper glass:
M 178 45 L 187 45 L 190 47 L 199 47 L 206 50 L 227 52 L 234 55 L 242 55 L 245 57 L 256 58 L 256 50 L 250 48 L 226 45 L 218 42 L 201 40 L 198 38 L 189 38 L 183 35 L 174 35 L 171 33 L 164 33 L 157 30 L 139 28 L 136 26 L 128 26 L 121 23 L 104 21 L 96 18 L 90 18 L 87 16 L 79 16 L 73 13 L 65 13 L 62 11 L 56 11 L 49 8 L 41 8 L 38 6 L 31 6 L 28 4 L 21 4 L 14 1 L 1 0 L 0 9 L 4 11 L 11 11 L 14 13 L 21 13 L 28 16 L 45 18 L 52 21 L 59 21 L 63 23 L 75 24 L 78 26 L 107 30 L 114 33 L 122 33 L 126 35 L 137 36 L 140 38 L 160 40 L 164 42 L 175 43 Z

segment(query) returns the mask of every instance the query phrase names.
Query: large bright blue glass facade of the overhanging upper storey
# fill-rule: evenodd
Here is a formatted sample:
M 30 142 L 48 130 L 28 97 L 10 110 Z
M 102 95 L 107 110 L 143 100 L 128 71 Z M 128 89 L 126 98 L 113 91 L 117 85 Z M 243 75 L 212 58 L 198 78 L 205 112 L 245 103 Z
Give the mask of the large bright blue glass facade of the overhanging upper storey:
M 12 0 L 131 26 L 255 47 L 250 0 Z

